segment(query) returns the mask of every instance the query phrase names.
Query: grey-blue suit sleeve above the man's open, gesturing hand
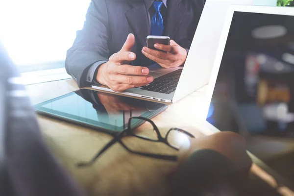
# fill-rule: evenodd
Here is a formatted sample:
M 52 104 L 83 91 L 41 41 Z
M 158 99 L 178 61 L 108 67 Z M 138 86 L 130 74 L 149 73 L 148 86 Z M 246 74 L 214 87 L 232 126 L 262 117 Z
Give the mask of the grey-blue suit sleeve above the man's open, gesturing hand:
M 80 88 L 90 86 L 94 76 L 94 72 L 90 70 L 91 66 L 98 61 L 108 60 L 108 35 L 106 2 L 92 0 L 84 26 L 77 32 L 72 48 L 67 51 L 65 61 L 67 73 Z

